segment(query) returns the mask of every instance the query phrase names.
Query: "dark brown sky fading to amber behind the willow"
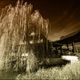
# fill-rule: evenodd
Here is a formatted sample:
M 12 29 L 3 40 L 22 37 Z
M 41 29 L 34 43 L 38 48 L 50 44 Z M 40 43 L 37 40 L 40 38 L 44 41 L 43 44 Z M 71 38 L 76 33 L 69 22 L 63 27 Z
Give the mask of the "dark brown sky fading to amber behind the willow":
M 7 4 L 15 4 L 17 0 L 0 0 L 0 9 Z M 24 0 L 32 3 L 44 18 L 49 18 L 49 39 L 57 40 L 61 36 L 80 29 L 79 0 Z

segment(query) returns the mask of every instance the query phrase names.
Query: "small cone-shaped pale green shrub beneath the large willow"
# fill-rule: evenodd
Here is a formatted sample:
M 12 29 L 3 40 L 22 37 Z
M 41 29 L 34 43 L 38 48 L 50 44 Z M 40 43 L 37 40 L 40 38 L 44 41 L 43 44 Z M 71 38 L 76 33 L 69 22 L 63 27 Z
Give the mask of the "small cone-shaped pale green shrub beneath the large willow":
M 38 69 L 38 59 L 35 56 L 34 52 L 31 50 L 28 54 L 27 58 L 27 68 L 26 71 L 28 73 L 35 72 Z

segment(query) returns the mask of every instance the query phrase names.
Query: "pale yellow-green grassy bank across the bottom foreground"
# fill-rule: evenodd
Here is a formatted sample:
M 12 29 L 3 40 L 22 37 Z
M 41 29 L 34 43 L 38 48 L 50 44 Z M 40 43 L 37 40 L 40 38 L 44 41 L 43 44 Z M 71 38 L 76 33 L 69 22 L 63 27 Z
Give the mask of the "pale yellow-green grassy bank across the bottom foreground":
M 67 64 L 63 68 L 55 67 L 48 69 L 39 69 L 36 73 L 19 74 L 16 80 L 24 79 L 53 79 L 53 80 L 80 80 L 80 62 Z

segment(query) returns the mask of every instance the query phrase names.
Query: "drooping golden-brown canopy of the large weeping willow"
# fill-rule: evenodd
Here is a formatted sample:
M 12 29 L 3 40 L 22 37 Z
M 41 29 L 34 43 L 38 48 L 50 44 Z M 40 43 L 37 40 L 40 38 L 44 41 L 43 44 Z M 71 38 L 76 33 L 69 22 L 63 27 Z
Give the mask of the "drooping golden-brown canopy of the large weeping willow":
M 9 5 L 2 10 L 0 15 L 0 67 L 4 65 L 6 57 L 15 52 L 16 46 L 20 43 L 25 43 L 26 48 L 30 49 L 31 26 L 36 27 L 39 35 L 42 33 L 45 37 L 47 36 L 48 21 L 44 20 L 37 10 L 32 12 L 31 4 L 20 4 L 18 1 L 15 7 Z M 16 53 L 20 53 L 19 47 Z

